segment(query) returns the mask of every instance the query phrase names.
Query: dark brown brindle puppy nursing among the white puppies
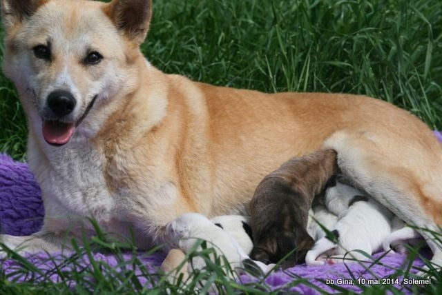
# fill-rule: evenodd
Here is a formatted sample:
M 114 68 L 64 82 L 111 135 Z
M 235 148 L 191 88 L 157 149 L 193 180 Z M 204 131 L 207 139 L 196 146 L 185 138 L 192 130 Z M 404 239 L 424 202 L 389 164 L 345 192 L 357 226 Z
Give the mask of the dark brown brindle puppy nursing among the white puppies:
M 291 159 L 265 176 L 250 203 L 253 260 L 278 263 L 294 251 L 282 267 L 304 262 L 314 245 L 307 232 L 311 203 L 337 170 L 336 152 L 320 150 Z

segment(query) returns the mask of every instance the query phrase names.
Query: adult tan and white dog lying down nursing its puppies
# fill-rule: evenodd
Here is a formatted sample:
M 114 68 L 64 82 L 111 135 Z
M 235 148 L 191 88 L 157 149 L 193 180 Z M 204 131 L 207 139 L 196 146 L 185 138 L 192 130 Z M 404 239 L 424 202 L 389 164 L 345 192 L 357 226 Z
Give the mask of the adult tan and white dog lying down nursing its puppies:
M 263 176 L 321 148 L 407 223 L 439 232 L 442 148 L 412 114 L 365 96 L 264 94 L 164 74 L 139 50 L 150 0 L 1 8 L 3 70 L 28 116 L 28 161 L 46 210 L 39 233 L 1 236 L 7 245 L 57 250 L 93 217 L 119 238 L 132 229 L 146 248 L 183 212 L 244 214 Z M 421 234 L 440 263 L 439 246 Z

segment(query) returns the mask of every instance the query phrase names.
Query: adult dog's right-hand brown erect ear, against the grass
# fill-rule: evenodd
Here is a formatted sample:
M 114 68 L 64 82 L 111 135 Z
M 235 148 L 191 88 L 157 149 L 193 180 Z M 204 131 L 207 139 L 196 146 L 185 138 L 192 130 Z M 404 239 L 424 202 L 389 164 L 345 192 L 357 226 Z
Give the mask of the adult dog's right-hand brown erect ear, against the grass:
M 113 0 L 104 8 L 118 30 L 142 43 L 151 23 L 152 0 Z

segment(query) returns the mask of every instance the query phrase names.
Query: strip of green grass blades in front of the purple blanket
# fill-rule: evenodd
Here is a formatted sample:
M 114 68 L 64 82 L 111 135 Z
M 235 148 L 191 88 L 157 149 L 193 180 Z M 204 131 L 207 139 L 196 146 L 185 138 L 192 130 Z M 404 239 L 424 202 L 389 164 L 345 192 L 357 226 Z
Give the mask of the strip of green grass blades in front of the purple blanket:
M 206 267 L 195 270 L 189 278 L 170 282 L 164 273 L 149 272 L 140 256 L 137 256 L 137 249 L 132 243 L 122 243 L 113 241 L 104 232 L 99 230 L 97 223 L 93 223 L 97 230 L 96 236 L 84 239 L 83 247 L 79 247 L 73 242 L 73 253 L 57 256 L 57 258 L 48 258 L 53 262 L 53 267 L 48 269 L 39 269 L 26 258 L 12 252 L 8 247 L 0 244 L 0 250 L 8 253 L 8 258 L 17 263 L 17 266 L 10 266 L 5 272 L 0 261 L 0 294 L 208 294 L 210 291 L 217 291 L 222 294 L 281 294 L 287 293 L 292 287 L 306 285 L 318 291 L 319 294 L 328 294 L 319 287 L 315 287 L 305 278 L 300 278 L 296 274 L 289 274 L 293 281 L 287 285 L 282 285 L 277 289 L 271 289 L 265 285 L 267 276 L 259 275 L 251 283 L 239 281 L 236 272 L 228 265 L 222 265 L 223 256 L 215 256 L 215 252 L 210 245 L 204 241 L 195 243 L 195 251 L 186 258 L 187 261 L 195 256 L 200 256 L 206 261 Z M 436 238 L 440 238 L 436 234 Z M 439 239 L 440 241 L 440 239 Z M 201 246 L 201 247 L 198 247 Z M 146 256 L 160 251 L 161 247 L 156 247 L 145 253 Z M 108 265 L 104 261 L 94 258 L 94 252 L 104 252 L 113 254 L 116 258 L 115 265 Z M 0 252 L 1 253 L 1 252 Z M 123 254 L 133 254 L 130 258 Z M 413 278 L 410 274 L 411 261 L 419 257 L 418 249 L 410 248 L 410 260 L 405 262 L 403 267 L 392 268 L 394 274 L 388 278 L 402 280 L 402 277 Z M 431 265 L 423 258 L 425 265 Z M 373 264 L 379 263 L 374 261 Z M 350 267 L 350 266 L 349 266 Z M 361 288 L 363 294 L 403 294 L 403 292 L 413 294 L 434 294 L 439 295 L 442 292 L 441 281 L 442 274 L 434 269 L 429 271 L 433 276 L 430 285 L 407 285 L 401 290 L 396 289 L 392 284 L 363 285 L 363 281 L 358 283 L 359 278 L 368 278 L 372 274 L 370 267 L 366 264 L 367 272 L 362 276 L 354 274 L 349 270 L 350 276 L 355 284 Z M 389 268 L 388 266 L 385 266 Z M 431 267 L 431 266 L 430 266 Z M 227 275 L 233 276 L 228 278 Z M 53 281 L 54 276 L 58 276 L 58 281 Z M 26 278 L 25 281 L 19 278 Z M 325 283 L 325 282 L 324 282 Z M 340 285 L 329 285 L 336 292 L 343 294 L 354 294 Z

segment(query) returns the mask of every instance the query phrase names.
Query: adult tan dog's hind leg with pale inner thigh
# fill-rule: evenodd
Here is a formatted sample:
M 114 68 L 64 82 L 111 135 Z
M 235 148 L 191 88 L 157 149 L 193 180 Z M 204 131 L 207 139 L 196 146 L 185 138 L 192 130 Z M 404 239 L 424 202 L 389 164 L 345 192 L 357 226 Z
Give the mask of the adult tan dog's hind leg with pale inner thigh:
M 442 145 L 432 132 L 340 131 L 324 147 L 337 152 L 340 170 L 356 187 L 420 228 L 432 263 L 441 267 Z

